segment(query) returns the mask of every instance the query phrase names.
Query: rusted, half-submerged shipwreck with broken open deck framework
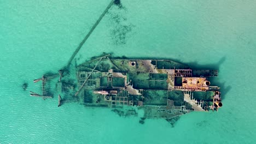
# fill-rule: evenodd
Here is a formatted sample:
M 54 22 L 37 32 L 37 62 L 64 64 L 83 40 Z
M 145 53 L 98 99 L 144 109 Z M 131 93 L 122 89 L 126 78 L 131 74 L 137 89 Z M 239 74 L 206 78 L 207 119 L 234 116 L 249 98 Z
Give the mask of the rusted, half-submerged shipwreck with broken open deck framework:
M 143 109 L 143 118 L 165 119 L 222 107 L 219 87 L 211 86 L 207 79 L 218 76 L 218 70 L 194 70 L 171 60 L 102 55 L 75 64 L 73 72 L 59 72 L 56 85 L 59 106 L 77 101 L 85 106 L 118 108 L 126 113 Z M 44 87 L 46 77 L 34 82 L 39 80 Z

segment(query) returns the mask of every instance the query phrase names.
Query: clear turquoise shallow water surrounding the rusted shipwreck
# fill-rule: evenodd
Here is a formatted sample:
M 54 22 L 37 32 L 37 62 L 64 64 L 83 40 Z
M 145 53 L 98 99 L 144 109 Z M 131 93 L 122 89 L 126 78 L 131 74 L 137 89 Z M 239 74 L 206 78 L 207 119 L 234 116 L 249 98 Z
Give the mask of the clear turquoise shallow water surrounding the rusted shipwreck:
M 122 1 L 78 53 L 79 62 L 113 52 L 219 68 L 218 112 L 189 113 L 172 128 L 30 97 L 22 83 L 40 92 L 32 80 L 67 63 L 108 3 L 0 0 L 0 143 L 254 143 L 255 1 Z

